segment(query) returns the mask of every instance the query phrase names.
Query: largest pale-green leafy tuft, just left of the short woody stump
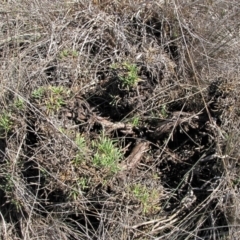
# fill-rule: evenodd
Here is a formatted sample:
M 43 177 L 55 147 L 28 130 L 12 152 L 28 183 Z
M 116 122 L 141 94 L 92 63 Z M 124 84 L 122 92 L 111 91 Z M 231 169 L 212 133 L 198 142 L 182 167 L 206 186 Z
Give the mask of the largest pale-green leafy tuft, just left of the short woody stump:
M 93 164 L 96 167 L 103 167 L 110 173 L 116 173 L 119 170 L 118 162 L 122 159 L 121 151 L 114 146 L 114 141 L 102 135 L 97 141 L 92 142 L 96 148 L 93 156 Z

